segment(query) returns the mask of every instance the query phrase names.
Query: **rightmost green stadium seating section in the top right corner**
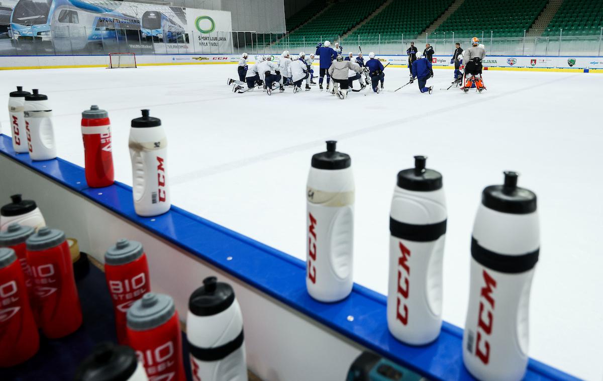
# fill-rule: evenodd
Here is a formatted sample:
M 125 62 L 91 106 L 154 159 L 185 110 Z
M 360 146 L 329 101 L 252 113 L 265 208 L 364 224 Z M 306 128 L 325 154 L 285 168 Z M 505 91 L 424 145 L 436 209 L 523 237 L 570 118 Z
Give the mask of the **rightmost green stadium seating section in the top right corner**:
M 565 0 L 543 36 L 599 36 L 603 27 L 603 1 Z

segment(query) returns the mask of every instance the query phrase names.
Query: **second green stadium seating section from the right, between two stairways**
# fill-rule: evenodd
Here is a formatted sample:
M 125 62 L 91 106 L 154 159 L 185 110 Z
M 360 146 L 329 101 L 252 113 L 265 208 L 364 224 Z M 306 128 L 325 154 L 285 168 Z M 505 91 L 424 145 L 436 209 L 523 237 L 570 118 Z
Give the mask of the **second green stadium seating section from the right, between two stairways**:
M 455 38 L 481 36 L 522 37 L 534 24 L 547 0 L 466 0 L 446 19 L 436 32 L 452 33 Z

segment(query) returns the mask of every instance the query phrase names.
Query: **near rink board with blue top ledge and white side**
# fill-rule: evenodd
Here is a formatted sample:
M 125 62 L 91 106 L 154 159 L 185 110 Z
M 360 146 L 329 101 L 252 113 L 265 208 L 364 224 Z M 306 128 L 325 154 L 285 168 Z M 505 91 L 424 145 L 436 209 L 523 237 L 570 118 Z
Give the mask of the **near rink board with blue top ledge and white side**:
M 431 380 L 472 380 L 463 365 L 463 330 L 443 323 L 423 347 L 390 335 L 386 297 L 358 284 L 339 303 L 313 300 L 306 291 L 306 263 L 235 231 L 172 206 L 164 215 L 134 213 L 131 187 L 92 189 L 84 169 L 66 160 L 33 162 L 16 154 L 0 134 L 1 195 L 22 193 L 37 201 L 46 222 L 78 239 L 99 262 L 119 238 L 142 242 L 151 289 L 172 295 L 181 320 L 188 297 L 204 277 L 230 282 L 241 304 L 247 363 L 265 380 L 343 379 L 365 348 Z M 80 295 L 83 297 L 83 295 Z M 534 359 L 525 380 L 577 380 Z

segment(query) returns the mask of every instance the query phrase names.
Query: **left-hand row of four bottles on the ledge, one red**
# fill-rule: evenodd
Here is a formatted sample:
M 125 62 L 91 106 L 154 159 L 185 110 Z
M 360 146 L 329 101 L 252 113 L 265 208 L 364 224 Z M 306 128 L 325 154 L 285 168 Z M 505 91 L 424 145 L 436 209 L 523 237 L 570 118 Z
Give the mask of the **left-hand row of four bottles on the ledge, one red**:
M 13 150 L 28 153 L 31 160 L 57 157 L 57 141 L 52 123 L 52 107 L 47 95 L 32 93 L 17 86 L 10 93 L 8 112 L 11 121 Z M 92 105 L 82 113 L 81 133 L 84 141 L 86 182 L 90 187 L 113 184 L 112 136 L 109 114 Z M 134 210 L 140 216 L 156 216 L 169 210 L 167 139 L 160 119 L 142 110 L 131 121 L 128 142 L 132 164 Z

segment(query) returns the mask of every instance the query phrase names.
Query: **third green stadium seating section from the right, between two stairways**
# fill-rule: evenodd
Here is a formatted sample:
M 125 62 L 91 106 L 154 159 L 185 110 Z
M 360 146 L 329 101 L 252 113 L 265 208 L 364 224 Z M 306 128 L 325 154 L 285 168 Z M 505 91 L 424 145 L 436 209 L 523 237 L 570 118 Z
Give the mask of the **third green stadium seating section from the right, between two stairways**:
M 425 31 L 448 7 L 453 0 L 432 0 L 421 2 L 417 6 L 415 0 L 394 0 L 379 14 L 358 28 L 348 38 L 354 40 L 370 40 L 381 35 L 381 39 L 400 39 L 402 34 L 414 38 Z

